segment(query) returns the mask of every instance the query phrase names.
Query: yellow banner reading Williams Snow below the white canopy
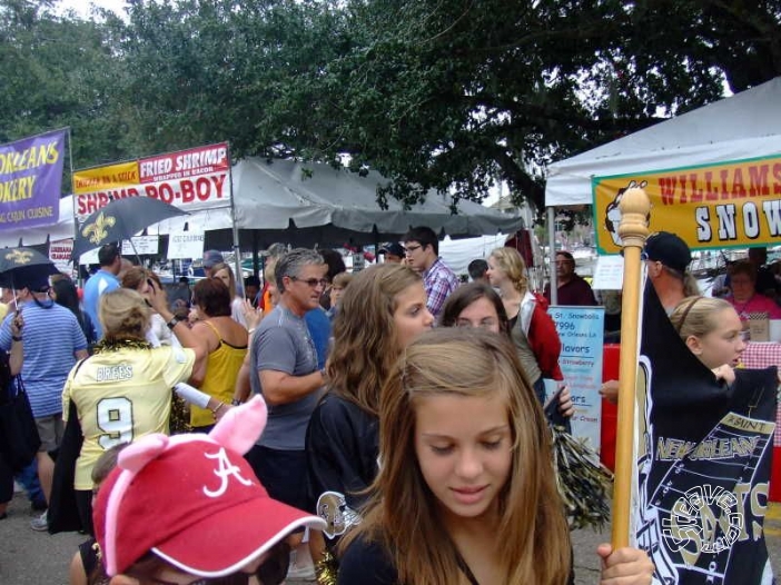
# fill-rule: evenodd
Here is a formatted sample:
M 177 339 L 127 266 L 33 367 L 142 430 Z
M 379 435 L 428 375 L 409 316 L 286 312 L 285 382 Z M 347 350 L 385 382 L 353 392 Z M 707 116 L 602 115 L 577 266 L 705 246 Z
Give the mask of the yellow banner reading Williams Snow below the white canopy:
M 653 231 L 672 231 L 696 249 L 781 244 L 781 155 L 719 165 L 592 179 L 600 254 L 619 254 L 619 204 L 642 187 Z

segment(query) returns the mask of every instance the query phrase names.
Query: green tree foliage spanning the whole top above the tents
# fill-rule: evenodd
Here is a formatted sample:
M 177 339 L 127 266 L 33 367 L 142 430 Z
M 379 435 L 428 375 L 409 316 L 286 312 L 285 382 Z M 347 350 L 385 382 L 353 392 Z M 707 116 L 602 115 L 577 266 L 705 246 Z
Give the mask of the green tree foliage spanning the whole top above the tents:
M 554 160 L 781 73 L 781 0 L 0 0 L 0 140 L 71 126 L 75 163 L 228 140 L 542 209 Z M 577 221 L 576 218 L 573 220 Z

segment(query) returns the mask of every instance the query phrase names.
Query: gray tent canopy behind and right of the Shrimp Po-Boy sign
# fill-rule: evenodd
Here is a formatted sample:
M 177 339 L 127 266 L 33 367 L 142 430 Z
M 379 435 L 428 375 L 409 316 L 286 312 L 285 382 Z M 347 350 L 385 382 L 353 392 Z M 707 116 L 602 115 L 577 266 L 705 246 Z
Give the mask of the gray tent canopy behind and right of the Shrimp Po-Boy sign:
M 380 209 L 377 186 L 388 180 L 374 171 L 362 177 L 324 163 L 248 158 L 234 166 L 233 180 L 241 242 L 255 239 L 261 248 L 271 241 L 373 244 L 398 239 L 414 226 L 455 238 L 524 227 L 522 218 L 474 201 L 459 201 L 454 215 L 452 199 L 435 191 L 408 210 L 395 199 Z

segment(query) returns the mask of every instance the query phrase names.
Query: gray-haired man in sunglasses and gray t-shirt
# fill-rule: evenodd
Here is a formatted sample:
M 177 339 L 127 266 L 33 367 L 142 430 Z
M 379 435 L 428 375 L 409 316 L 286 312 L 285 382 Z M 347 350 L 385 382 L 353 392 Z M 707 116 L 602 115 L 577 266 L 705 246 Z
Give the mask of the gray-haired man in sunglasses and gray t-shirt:
M 298 248 L 277 261 L 279 304 L 253 336 L 249 380 L 268 404 L 268 424 L 247 454 L 268 494 L 305 509 L 309 417 L 324 385 L 304 315 L 319 307 L 327 266 L 315 250 Z

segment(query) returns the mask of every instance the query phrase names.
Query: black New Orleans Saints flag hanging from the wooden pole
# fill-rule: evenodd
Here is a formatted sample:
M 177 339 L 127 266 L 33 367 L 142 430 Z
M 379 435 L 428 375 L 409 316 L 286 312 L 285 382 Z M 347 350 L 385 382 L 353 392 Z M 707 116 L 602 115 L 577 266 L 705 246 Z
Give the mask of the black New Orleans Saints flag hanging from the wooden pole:
M 770 584 L 763 520 L 777 368 L 718 380 L 645 288 L 634 536 L 660 584 Z

